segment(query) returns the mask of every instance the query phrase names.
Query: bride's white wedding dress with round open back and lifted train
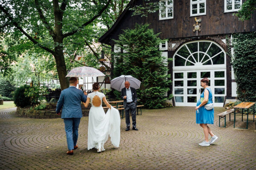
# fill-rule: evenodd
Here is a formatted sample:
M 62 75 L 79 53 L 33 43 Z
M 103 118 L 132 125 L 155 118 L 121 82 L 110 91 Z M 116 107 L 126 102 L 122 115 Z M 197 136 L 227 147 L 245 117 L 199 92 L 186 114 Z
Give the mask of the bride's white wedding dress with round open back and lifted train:
M 88 94 L 91 108 L 89 111 L 88 123 L 88 146 L 90 150 L 93 147 L 98 150 L 105 150 L 104 143 L 111 137 L 111 143 L 119 147 L 120 143 L 120 115 L 119 111 L 111 106 L 105 114 L 102 108 L 103 93 L 98 91 Z M 100 104 L 99 104 L 100 103 Z M 94 105 L 93 105 L 94 104 Z M 95 105 L 99 105 L 96 107 Z

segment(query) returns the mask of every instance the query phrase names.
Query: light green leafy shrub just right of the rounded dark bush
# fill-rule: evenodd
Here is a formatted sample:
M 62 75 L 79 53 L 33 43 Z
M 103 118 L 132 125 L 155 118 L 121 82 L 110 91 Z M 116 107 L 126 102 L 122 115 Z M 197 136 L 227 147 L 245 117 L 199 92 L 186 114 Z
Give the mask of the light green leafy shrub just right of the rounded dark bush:
M 24 95 L 30 98 L 32 105 L 40 104 L 41 101 L 46 100 L 45 95 L 49 94 L 47 87 L 33 86 L 25 90 Z

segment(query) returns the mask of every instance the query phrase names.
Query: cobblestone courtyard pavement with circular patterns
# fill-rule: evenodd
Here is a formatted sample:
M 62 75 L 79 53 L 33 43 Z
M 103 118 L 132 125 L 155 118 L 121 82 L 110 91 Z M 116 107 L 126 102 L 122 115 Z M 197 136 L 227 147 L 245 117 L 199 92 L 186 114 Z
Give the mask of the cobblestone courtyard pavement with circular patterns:
M 73 156 L 66 154 L 62 119 L 21 118 L 12 111 L 0 110 L 0 169 L 256 170 L 255 122 L 248 130 L 233 128 L 233 121 L 220 128 L 216 115 L 223 108 L 215 108 L 215 122 L 209 127 L 219 138 L 209 147 L 198 145 L 204 134 L 195 123 L 194 107 L 143 109 L 137 116 L 139 131 L 126 132 L 121 119 L 120 147 L 108 140 L 102 153 L 87 150 L 88 117 L 83 117 Z M 241 116 L 236 117 L 236 127 L 246 127 Z

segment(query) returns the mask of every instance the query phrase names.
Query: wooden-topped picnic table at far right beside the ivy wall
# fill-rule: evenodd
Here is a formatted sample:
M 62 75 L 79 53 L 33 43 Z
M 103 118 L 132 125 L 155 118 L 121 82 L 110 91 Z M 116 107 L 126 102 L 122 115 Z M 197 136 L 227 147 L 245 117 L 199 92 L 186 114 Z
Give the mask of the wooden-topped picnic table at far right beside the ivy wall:
M 240 104 L 234 106 L 234 128 L 236 123 L 236 114 L 242 113 L 242 122 L 243 122 L 243 114 L 247 115 L 247 122 L 246 122 L 246 129 L 248 129 L 248 115 L 249 113 L 253 113 L 253 122 L 254 122 L 254 115 L 255 115 L 255 109 L 254 109 L 255 102 L 241 102 Z

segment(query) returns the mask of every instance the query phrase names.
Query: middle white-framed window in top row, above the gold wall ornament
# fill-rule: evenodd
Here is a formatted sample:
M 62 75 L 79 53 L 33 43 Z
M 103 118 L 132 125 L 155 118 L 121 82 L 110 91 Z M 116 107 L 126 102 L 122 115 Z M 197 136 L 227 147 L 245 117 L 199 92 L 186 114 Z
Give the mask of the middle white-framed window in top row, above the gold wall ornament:
M 206 14 L 206 0 L 190 0 L 190 16 Z

